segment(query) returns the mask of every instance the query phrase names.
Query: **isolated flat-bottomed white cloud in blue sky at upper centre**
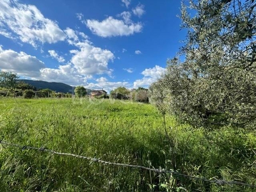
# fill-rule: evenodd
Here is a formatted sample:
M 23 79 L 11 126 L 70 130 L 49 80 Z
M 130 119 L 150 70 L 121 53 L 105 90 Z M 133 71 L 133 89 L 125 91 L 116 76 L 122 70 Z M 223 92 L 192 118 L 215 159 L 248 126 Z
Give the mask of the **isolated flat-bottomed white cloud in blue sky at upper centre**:
M 95 34 L 102 37 L 108 36 L 129 36 L 134 33 L 140 33 L 143 26 L 140 22 L 129 24 L 124 20 L 108 17 L 101 22 L 99 20 L 86 20 L 86 26 Z

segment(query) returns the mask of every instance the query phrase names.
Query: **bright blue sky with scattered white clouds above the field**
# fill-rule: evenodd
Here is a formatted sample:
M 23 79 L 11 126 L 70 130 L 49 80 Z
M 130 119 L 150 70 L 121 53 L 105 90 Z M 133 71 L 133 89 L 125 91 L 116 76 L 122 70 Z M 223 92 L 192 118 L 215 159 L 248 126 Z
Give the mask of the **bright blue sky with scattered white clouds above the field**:
M 90 89 L 148 88 L 186 38 L 179 0 L 1 0 L 0 69 Z

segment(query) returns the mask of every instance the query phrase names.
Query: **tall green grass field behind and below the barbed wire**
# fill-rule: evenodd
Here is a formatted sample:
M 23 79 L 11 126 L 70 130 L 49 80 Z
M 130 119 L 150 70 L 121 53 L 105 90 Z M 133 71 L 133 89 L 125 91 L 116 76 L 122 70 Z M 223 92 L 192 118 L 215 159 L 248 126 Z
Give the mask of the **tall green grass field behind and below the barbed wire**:
M 0 99 L 0 139 L 256 185 L 256 134 L 180 125 L 150 104 Z M 0 145 L 0 191 L 255 191 Z

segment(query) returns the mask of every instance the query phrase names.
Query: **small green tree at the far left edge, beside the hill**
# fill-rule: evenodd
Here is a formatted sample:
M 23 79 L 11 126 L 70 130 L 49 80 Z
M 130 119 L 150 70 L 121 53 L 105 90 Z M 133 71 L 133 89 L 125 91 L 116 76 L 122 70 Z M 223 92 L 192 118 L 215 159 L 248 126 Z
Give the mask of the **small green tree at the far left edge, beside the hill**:
M 12 72 L 0 72 L 0 87 L 14 89 L 17 85 L 16 80 L 19 77 L 17 74 L 13 74 Z

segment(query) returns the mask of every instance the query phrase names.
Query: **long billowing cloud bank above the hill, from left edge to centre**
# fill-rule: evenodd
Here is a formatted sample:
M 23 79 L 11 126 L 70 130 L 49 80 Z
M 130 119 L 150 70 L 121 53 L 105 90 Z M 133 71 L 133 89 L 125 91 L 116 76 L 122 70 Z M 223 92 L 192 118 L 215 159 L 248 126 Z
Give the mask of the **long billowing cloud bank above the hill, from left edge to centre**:
M 84 84 L 95 74 L 107 74 L 111 76 L 113 69 L 108 63 L 113 61 L 114 54 L 107 50 L 96 47 L 88 40 L 88 37 L 79 31 L 65 29 L 68 44 L 76 47 L 70 50 L 72 58 L 67 65 L 58 68 L 46 68 L 44 63 L 24 52 L 0 49 L 0 68 L 16 72 L 22 76 L 44 81 L 63 82 L 77 85 Z M 65 59 L 54 50 L 48 51 L 52 58 L 59 62 Z

